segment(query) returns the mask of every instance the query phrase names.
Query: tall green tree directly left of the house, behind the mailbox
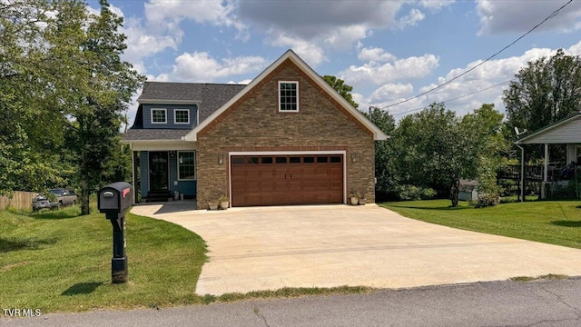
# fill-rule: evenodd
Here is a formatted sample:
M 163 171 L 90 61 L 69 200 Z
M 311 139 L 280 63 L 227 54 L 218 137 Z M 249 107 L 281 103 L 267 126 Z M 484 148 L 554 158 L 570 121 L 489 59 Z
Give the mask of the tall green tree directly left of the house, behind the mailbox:
M 108 161 L 121 151 L 119 130 L 123 111 L 143 82 L 133 66 L 121 59 L 123 18 L 101 0 L 99 15 L 89 15 L 84 2 L 69 0 L 51 26 L 54 60 L 69 67 L 56 83 L 61 112 L 69 117 L 65 147 L 78 169 L 81 211 L 88 214 L 89 196 L 99 188 Z M 63 39 L 61 33 L 69 35 Z

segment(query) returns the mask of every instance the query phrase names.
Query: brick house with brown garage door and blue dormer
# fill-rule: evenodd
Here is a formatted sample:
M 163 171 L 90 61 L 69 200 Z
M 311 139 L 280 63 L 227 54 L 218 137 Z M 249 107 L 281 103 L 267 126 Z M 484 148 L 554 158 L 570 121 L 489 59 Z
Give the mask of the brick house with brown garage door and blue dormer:
M 123 143 L 145 198 L 182 193 L 198 209 L 347 203 L 374 193 L 374 141 L 387 135 L 287 51 L 251 84 L 148 82 Z M 136 201 L 139 199 L 136 198 Z

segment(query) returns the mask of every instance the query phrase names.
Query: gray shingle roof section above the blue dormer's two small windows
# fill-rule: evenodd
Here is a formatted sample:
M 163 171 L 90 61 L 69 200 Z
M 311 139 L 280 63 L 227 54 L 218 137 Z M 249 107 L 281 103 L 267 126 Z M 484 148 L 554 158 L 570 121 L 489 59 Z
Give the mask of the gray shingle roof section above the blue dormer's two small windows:
M 146 104 L 147 100 L 197 102 L 200 104 L 200 122 L 202 122 L 245 86 L 242 84 L 145 82 L 143 92 L 137 101 L 142 104 Z

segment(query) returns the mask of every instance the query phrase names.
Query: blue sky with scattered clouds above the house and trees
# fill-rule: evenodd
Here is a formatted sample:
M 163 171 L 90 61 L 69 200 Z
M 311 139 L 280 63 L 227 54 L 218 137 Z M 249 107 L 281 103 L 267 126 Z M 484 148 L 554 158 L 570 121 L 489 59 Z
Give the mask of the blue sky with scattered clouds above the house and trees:
M 150 81 L 247 84 L 292 49 L 317 73 L 352 85 L 359 109 L 387 107 L 397 119 L 507 82 L 527 62 L 558 48 L 581 54 L 581 2 L 567 2 L 110 0 L 125 19 L 123 58 Z M 96 1 L 89 4 L 97 8 Z M 562 5 L 558 15 L 474 71 L 390 106 L 462 74 Z M 504 112 L 506 86 L 446 105 L 460 115 L 483 103 Z

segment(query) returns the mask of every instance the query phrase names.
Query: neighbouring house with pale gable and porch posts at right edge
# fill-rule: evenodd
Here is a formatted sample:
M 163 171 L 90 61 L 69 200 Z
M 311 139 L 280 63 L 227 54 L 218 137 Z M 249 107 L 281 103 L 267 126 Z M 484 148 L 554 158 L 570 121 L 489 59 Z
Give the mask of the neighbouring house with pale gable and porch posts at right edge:
M 525 147 L 527 144 L 544 144 L 545 159 L 543 167 L 543 186 L 541 187 L 541 198 L 547 197 L 547 188 L 545 185 L 549 181 L 549 157 L 548 148 L 550 144 L 566 144 L 566 163 L 573 163 L 576 167 L 581 167 L 581 113 L 574 114 L 566 119 L 560 120 L 554 124 L 549 124 L 546 127 L 527 134 L 527 136 L 515 142 L 521 148 L 521 163 L 524 164 Z M 523 178 L 524 165 L 521 164 L 521 184 L 524 183 Z M 524 188 L 521 187 L 521 190 Z M 524 192 L 524 191 L 523 191 Z M 522 198 L 522 196 L 521 196 Z

